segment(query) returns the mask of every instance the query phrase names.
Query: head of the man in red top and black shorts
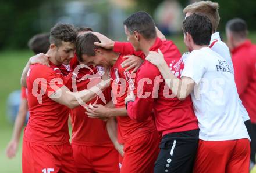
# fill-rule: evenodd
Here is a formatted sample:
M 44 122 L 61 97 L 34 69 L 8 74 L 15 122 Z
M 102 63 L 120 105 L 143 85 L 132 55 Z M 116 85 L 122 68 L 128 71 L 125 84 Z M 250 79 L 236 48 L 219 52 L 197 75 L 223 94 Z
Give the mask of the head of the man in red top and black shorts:
M 137 12 L 131 14 L 125 21 L 125 34 L 136 51 L 141 50 L 140 41 L 142 39 L 151 40 L 157 37 L 155 23 L 150 14 L 146 12 Z

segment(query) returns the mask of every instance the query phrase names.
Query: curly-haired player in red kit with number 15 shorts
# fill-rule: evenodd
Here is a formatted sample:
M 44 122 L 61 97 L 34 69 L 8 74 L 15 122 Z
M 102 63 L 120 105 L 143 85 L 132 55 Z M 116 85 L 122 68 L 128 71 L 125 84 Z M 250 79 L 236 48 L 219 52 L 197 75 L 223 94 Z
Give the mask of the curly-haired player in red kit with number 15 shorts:
M 49 58 L 49 66 L 30 65 L 30 58 L 22 75 L 30 111 L 23 137 L 23 172 L 77 172 L 69 143 L 69 110 L 109 86 L 109 80 L 101 80 L 90 90 L 70 92 L 71 75 L 64 76 L 59 65 L 69 64 L 74 57 L 77 31 L 72 25 L 56 24 L 50 35 L 48 53 L 37 55 Z

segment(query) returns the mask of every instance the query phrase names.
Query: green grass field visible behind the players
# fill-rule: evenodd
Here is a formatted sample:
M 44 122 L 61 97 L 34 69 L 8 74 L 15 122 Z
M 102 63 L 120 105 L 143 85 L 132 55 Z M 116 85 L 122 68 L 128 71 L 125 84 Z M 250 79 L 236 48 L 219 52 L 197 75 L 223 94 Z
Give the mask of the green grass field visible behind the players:
M 256 43 L 256 34 L 250 35 Z M 184 53 L 186 47 L 181 36 L 173 37 L 173 41 Z M 5 148 L 8 144 L 13 125 L 6 118 L 6 99 L 14 90 L 20 89 L 20 74 L 29 57 L 33 53 L 29 50 L 5 50 L 0 52 L 0 172 L 17 173 L 22 172 L 22 142 L 20 142 L 19 152 L 14 159 L 7 159 Z M 256 173 L 256 170 L 254 171 Z

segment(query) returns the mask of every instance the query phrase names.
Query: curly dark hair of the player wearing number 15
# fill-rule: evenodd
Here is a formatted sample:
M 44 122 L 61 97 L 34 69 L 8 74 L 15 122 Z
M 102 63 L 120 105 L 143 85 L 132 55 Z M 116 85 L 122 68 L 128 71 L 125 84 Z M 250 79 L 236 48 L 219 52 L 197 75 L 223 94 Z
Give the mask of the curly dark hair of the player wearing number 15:
M 50 43 L 54 43 L 57 47 L 63 42 L 76 43 L 77 30 L 73 25 L 58 23 L 50 32 Z

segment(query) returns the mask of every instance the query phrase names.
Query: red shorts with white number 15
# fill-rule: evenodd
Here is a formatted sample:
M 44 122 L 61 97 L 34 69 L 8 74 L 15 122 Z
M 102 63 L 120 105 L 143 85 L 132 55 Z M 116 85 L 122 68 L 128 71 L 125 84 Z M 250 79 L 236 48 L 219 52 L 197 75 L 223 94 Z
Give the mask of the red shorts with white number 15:
M 43 145 L 23 140 L 22 172 L 77 172 L 70 143 Z

